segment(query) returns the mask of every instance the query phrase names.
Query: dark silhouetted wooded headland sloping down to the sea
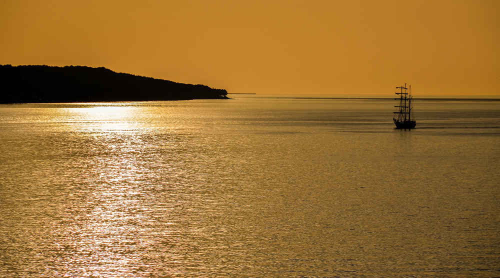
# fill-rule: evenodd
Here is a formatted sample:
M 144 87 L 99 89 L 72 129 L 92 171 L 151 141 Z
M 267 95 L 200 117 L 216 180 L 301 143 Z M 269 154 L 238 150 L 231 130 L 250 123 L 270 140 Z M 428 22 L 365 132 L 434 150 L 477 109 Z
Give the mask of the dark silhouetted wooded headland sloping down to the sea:
M 0 103 L 228 99 L 225 89 L 114 72 L 105 67 L 0 65 Z

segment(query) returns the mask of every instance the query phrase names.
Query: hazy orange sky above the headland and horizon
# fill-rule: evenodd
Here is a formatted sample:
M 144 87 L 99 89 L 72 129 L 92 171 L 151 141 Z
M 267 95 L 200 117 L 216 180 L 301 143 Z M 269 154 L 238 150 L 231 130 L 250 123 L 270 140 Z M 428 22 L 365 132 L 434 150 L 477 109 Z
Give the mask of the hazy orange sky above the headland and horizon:
M 0 0 L 0 64 L 229 92 L 500 94 L 497 0 Z

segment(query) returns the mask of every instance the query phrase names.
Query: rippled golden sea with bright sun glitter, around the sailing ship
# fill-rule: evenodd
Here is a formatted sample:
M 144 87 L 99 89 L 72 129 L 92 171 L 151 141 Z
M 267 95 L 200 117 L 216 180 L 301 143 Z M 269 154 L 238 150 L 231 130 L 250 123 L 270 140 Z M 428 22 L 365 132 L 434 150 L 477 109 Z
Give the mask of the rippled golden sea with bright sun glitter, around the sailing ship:
M 0 105 L 0 277 L 500 277 L 500 97 Z

